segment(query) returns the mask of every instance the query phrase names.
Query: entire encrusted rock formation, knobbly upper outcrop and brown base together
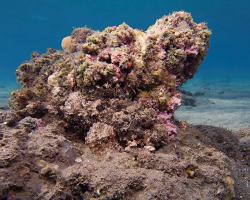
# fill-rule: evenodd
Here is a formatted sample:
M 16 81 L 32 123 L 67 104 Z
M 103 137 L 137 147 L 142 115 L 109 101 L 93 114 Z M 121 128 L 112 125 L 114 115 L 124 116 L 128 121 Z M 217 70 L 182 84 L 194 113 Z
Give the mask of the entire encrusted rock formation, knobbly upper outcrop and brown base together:
M 77 28 L 63 51 L 33 53 L 0 112 L 0 199 L 246 199 L 239 139 L 174 119 L 209 38 L 175 12 L 145 32 Z

